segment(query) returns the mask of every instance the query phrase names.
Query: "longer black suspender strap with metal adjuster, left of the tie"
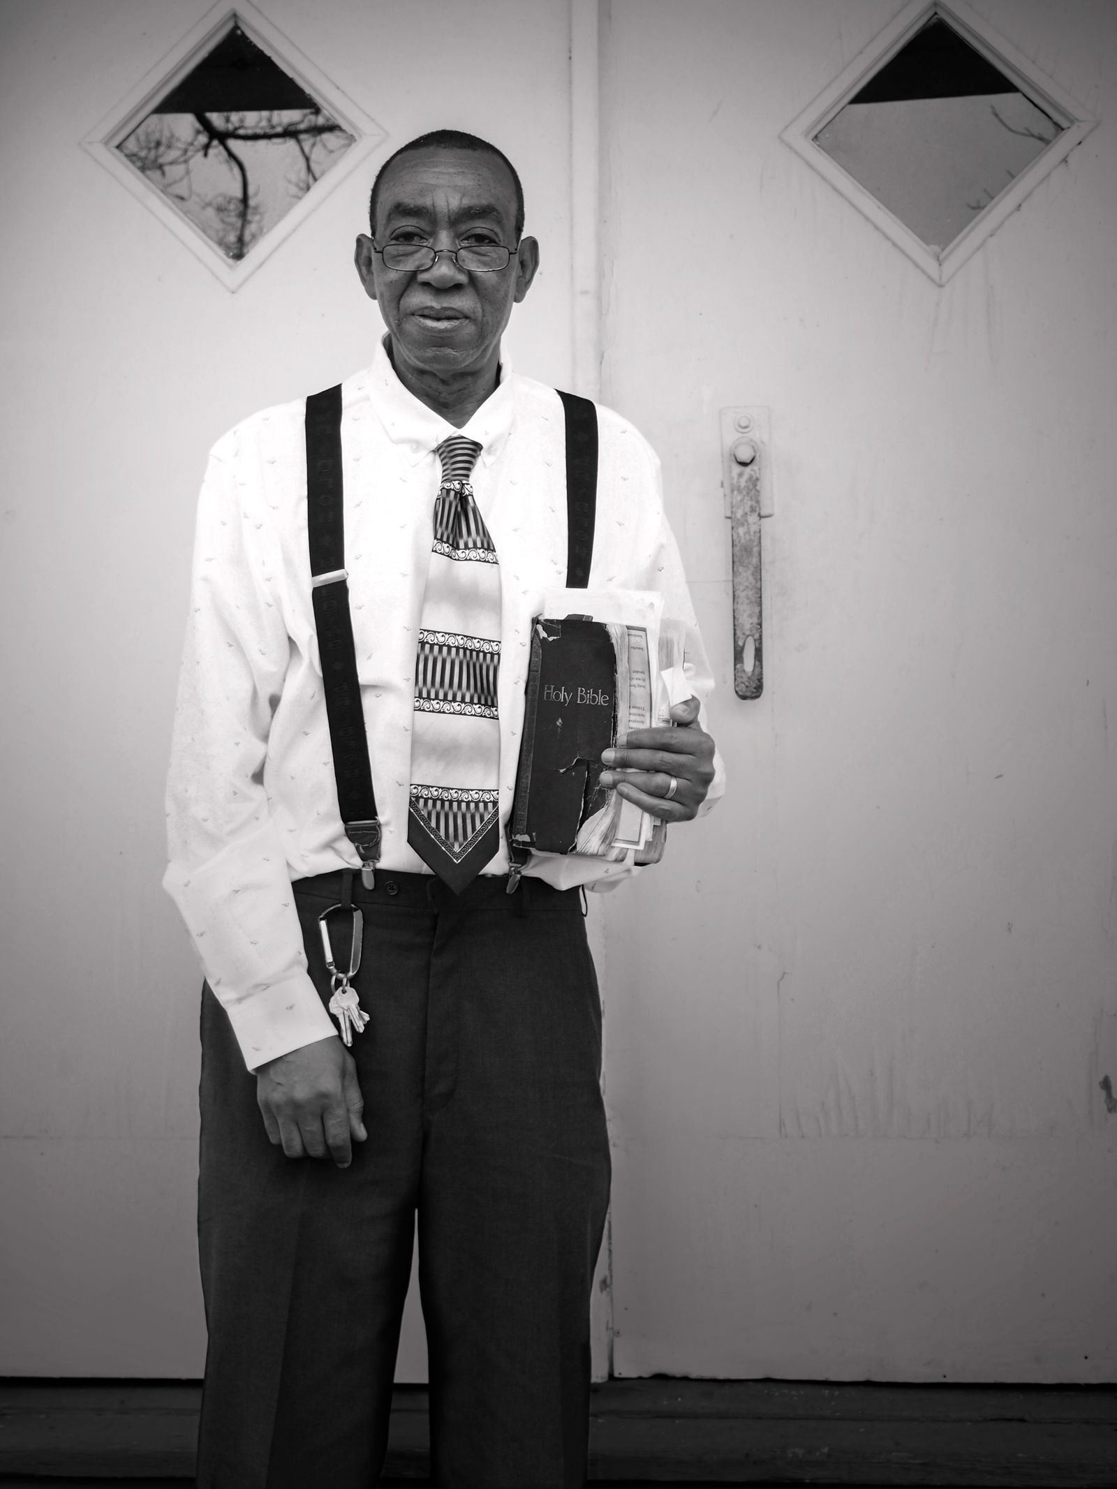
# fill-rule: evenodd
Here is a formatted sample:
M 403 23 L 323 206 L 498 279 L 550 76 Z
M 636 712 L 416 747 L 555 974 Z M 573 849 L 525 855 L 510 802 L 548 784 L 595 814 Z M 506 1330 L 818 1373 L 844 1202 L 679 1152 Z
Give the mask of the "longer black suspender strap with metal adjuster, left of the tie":
M 371 889 L 374 865 L 380 858 L 380 820 L 349 613 L 340 384 L 307 399 L 307 536 L 338 810 L 346 835 L 365 865 L 362 877 Z

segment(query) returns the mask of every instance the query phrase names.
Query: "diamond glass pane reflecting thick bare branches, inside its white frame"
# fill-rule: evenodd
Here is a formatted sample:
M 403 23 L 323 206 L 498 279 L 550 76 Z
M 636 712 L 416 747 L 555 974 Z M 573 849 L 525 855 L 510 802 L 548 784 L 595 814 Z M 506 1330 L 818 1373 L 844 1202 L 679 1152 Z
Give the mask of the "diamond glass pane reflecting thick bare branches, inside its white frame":
M 237 261 L 350 144 L 353 135 L 234 25 L 116 149 Z

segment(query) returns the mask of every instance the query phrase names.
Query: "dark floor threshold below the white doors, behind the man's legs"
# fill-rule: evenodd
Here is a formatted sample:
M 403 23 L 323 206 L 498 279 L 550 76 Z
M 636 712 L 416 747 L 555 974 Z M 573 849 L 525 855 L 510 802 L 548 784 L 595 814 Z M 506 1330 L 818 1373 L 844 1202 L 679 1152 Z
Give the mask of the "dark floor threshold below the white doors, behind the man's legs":
M 194 1382 L 0 1382 L 0 1485 L 180 1489 Z M 609 1380 L 591 1480 L 691 1485 L 1117 1486 L 1117 1391 L 1099 1386 Z M 426 1389 L 398 1388 L 386 1477 L 427 1476 Z M 52 1482 L 52 1483 L 51 1483 Z M 387 1485 L 384 1486 L 387 1489 Z

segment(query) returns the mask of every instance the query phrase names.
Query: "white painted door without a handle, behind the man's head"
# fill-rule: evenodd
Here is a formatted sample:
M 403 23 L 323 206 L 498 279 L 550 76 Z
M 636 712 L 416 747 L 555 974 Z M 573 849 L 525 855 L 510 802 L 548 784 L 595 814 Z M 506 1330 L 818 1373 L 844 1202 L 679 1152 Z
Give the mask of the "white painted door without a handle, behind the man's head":
M 1 1374 L 201 1371 L 201 983 L 159 887 L 197 490 L 235 420 L 368 359 L 353 238 L 392 149 L 453 124 L 514 156 L 544 255 L 508 345 L 572 378 L 566 4 L 261 12 L 383 140 L 232 293 L 82 147 L 206 0 L 0 4 Z M 405 1376 L 424 1368 L 414 1325 Z

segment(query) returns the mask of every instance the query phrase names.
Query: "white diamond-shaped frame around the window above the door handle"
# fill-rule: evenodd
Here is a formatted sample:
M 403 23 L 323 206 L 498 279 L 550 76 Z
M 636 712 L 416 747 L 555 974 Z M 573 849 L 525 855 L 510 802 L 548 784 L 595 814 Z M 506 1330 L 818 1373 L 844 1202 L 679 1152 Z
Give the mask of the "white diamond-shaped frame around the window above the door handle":
M 914 33 L 932 16 L 941 16 L 974 51 L 987 58 L 1004 73 L 1025 98 L 1048 113 L 1060 127 L 1060 133 L 1025 167 L 1016 180 L 999 197 L 970 222 L 962 232 L 941 252 L 928 247 L 906 223 L 888 210 L 877 198 L 843 170 L 837 161 L 815 143 L 815 135 L 864 88 L 864 85 L 895 54 L 907 45 Z M 807 165 L 825 177 L 846 201 L 858 208 L 873 226 L 906 253 L 935 281 L 946 281 L 971 258 L 1005 217 L 1010 217 L 1025 197 L 1032 192 L 1056 165 L 1066 159 L 1075 144 L 1080 144 L 1098 124 L 1081 106 L 1069 97 L 1053 79 L 1047 77 L 1019 48 L 999 36 L 986 19 L 970 9 L 964 0 L 911 0 L 791 124 L 782 131 L 780 140 L 788 144 Z

